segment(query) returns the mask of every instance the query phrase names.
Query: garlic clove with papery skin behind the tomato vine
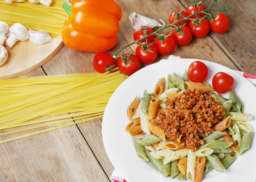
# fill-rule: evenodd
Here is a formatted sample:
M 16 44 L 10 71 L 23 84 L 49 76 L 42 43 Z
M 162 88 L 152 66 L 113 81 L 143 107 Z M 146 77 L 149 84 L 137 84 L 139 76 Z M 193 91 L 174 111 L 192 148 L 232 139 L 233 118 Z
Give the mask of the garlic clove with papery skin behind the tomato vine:
M 156 20 L 144 17 L 140 14 L 137 14 L 136 12 L 130 14 L 129 20 L 131 21 L 131 24 L 134 29 L 138 28 L 139 26 L 148 26 L 149 28 L 162 26 Z

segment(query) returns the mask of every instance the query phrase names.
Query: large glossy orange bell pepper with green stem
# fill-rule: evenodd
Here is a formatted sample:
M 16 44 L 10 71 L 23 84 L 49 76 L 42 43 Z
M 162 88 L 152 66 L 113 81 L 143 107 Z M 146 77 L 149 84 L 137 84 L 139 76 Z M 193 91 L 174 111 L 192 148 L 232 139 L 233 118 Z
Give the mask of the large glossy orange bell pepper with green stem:
M 72 5 L 71 12 L 63 6 L 71 13 L 62 32 L 68 48 L 102 52 L 116 45 L 122 10 L 114 0 L 73 0 Z

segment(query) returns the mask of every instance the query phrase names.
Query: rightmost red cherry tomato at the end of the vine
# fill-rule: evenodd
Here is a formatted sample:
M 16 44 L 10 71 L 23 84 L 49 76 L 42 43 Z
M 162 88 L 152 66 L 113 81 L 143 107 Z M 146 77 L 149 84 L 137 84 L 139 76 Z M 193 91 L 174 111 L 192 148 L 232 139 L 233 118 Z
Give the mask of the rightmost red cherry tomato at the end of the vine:
M 219 13 L 212 20 L 211 30 L 218 34 L 223 34 L 230 27 L 230 20 L 226 14 Z

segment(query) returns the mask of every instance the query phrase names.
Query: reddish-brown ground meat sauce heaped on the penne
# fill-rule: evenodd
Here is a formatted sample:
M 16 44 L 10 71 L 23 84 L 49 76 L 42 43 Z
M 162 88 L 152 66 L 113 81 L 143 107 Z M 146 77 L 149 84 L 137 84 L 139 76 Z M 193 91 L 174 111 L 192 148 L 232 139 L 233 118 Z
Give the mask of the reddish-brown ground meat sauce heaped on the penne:
M 225 115 L 224 107 L 214 97 L 206 97 L 195 89 L 187 89 L 175 100 L 168 100 L 166 109 L 169 113 L 157 114 L 153 122 L 164 129 L 166 137 L 181 137 L 180 145 L 192 151 L 204 145 L 203 137 L 211 134 L 213 126 Z

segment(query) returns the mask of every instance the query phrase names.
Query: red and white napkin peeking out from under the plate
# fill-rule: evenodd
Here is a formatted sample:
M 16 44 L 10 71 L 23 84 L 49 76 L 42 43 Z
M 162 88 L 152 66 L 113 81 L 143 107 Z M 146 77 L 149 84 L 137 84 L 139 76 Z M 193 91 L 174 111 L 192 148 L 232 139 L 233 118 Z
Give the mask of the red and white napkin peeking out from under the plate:
M 174 59 L 184 59 L 184 57 L 179 57 L 174 55 L 170 55 L 168 57 L 168 60 L 174 60 Z M 250 73 L 244 73 L 241 71 L 236 71 L 236 72 L 243 75 L 243 77 L 245 77 L 247 80 L 252 82 L 253 85 L 256 86 L 256 75 L 250 74 Z M 125 179 L 117 176 L 122 176 L 122 172 L 118 171 L 118 169 L 115 169 L 112 173 L 112 176 L 110 177 L 111 182 L 127 182 Z

